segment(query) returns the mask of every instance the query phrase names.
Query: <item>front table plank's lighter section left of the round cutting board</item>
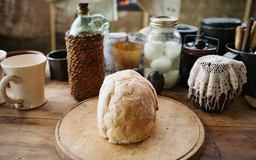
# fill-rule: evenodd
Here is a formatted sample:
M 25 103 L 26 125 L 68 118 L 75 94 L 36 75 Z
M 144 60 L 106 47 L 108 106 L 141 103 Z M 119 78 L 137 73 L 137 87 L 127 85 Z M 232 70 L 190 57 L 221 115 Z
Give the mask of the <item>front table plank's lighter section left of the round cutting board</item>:
M 60 160 L 54 148 L 58 120 L 0 117 L 1 160 Z

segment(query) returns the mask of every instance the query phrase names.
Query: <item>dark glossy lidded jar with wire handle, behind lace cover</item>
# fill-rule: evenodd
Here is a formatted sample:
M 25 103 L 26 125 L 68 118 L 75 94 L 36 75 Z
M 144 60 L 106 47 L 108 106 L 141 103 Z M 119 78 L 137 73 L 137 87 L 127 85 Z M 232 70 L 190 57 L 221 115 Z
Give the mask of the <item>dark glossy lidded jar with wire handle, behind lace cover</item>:
M 181 52 L 180 83 L 188 88 L 190 70 L 196 60 L 202 56 L 217 54 L 219 40 L 201 35 L 186 35 Z

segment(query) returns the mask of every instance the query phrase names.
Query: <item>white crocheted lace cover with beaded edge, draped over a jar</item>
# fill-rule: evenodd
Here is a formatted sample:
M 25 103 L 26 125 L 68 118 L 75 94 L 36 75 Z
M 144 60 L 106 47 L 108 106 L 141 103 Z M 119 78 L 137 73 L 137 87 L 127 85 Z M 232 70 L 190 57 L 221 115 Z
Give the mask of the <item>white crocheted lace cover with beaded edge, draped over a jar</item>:
M 242 85 L 247 82 L 246 67 L 243 62 L 218 55 L 198 58 L 188 78 L 189 98 L 194 95 L 195 102 L 206 100 L 204 108 L 214 109 L 218 106 L 220 95 L 224 93 L 226 100 L 232 100 L 234 94 L 240 95 Z M 230 94 L 228 94 L 230 93 Z M 211 102 L 215 98 L 215 102 Z M 224 103 L 222 105 L 223 109 Z M 221 106 L 220 106 L 221 107 Z M 218 106 L 219 108 L 219 106 Z

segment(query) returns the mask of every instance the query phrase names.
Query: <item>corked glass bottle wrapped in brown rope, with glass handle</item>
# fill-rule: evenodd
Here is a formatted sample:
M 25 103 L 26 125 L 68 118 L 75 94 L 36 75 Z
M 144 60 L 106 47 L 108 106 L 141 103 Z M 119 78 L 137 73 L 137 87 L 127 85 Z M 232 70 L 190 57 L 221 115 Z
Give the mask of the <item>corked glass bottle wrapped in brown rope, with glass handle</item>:
M 108 19 L 90 15 L 88 3 L 79 3 L 77 18 L 65 34 L 70 94 L 78 100 L 98 96 L 104 80 L 104 34 Z M 98 27 L 95 22 L 99 21 Z

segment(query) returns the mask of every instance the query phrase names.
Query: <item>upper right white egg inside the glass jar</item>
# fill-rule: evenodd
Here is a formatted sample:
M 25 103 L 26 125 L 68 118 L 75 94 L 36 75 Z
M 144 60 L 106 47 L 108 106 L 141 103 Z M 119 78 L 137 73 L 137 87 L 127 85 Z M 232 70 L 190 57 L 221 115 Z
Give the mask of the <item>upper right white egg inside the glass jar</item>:
M 165 42 L 165 46 L 164 52 L 170 59 L 174 60 L 180 57 L 181 44 L 175 41 L 167 41 Z

